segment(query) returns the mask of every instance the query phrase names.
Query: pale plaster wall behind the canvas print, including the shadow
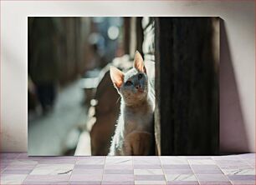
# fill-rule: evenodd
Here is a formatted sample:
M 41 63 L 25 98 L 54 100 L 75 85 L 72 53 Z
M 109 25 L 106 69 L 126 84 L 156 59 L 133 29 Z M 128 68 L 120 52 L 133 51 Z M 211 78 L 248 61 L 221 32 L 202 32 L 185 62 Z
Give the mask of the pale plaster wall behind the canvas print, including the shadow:
M 1 1 L 2 151 L 27 151 L 27 17 L 35 15 L 223 18 L 220 68 L 221 149 L 225 153 L 255 152 L 253 1 Z

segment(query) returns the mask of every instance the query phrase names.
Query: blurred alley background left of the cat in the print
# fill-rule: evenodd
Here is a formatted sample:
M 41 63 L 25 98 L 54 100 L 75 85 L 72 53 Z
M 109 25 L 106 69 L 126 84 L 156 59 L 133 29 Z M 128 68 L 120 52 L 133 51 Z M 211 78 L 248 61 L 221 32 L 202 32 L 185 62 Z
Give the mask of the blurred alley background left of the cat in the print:
M 124 53 L 123 24 L 123 18 L 28 18 L 29 155 L 74 155 L 100 69 Z

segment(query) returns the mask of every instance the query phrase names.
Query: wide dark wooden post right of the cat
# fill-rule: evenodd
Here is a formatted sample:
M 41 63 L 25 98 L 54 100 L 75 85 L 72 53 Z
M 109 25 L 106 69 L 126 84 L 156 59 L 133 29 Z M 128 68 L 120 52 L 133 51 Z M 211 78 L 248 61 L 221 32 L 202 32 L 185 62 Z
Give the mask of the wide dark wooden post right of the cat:
M 213 20 L 156 18 L 155 128 L 161 155 L 218 153 Z

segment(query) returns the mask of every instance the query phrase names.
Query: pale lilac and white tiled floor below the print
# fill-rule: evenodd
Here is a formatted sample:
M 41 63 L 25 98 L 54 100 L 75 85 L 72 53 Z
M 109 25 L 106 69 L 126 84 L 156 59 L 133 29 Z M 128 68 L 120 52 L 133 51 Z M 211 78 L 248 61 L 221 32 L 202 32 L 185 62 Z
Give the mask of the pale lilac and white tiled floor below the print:
M 27 157 L 1 153 L 1 184 L 255 184 L 255 154 Z

